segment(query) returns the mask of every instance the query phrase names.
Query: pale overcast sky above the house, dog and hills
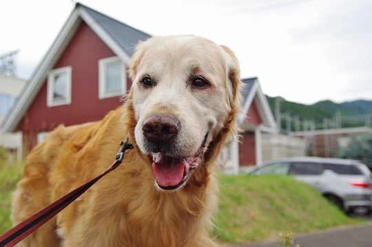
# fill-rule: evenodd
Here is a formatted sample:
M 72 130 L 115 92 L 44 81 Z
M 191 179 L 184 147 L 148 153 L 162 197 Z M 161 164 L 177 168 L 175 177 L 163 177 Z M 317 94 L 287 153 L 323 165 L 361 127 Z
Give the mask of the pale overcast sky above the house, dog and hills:
M 243 78 L 289 101 L 372 100 L 371 0 L 84 0 L 152 35 L 196 34 L 233 50 Z M 0 55 L 19 49 L 28 79 L 68 19 L 71 0 L 0 3 Z

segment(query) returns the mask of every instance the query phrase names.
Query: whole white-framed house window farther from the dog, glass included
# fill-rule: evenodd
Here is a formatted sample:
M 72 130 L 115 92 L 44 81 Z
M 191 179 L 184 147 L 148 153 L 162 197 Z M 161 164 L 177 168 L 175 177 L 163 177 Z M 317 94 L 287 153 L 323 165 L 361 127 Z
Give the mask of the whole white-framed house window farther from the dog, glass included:
M 48 75 L 48 107 L 71 103 L 71 67 L 57 68 Z

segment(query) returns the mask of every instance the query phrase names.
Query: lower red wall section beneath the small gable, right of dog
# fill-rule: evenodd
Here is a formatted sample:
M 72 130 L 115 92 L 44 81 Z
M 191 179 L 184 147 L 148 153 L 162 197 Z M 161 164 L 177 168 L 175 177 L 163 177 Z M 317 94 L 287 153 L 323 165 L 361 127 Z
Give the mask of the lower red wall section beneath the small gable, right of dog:
M 251 166 L 256 164 L 256 141 L 254 132 L 245 132 L 239 144 L 239 165 Z

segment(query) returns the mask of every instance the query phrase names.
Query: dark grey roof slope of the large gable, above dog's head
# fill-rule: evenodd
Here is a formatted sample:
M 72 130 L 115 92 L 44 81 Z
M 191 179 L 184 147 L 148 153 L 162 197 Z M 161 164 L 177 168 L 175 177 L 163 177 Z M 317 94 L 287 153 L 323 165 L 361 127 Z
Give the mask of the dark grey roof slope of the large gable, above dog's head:
M 116 43 L 118 43 L 118 45 L 125 50 L 129 57 L 132 57 L 134 54 L 134 47 L 138 41 L 145 41 L 151 37 L 151 35 L 145 32 L 141 32 L 140 30 L 127 26 L 120 21 L 107 17 L 105 14 L 92 10 L 87 6 L 83 6 L 81 3 L 77 3 L 76 7 L 77 6 L 81 6 L 84 10 L 86 10 L 107 32 L 107 34 L 109 34 L 112 39 L 114 39 L 114 41 L 116 41 Z

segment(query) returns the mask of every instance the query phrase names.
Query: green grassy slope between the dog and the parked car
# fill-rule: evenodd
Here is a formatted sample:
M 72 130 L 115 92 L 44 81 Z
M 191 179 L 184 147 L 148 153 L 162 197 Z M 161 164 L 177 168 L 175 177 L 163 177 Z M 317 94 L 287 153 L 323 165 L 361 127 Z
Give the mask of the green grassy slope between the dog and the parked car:
M 220 211 L 214 234 L 222 241 L 244 243 L 355 224 L 307 184 L 291 177 L 220 175 Z

